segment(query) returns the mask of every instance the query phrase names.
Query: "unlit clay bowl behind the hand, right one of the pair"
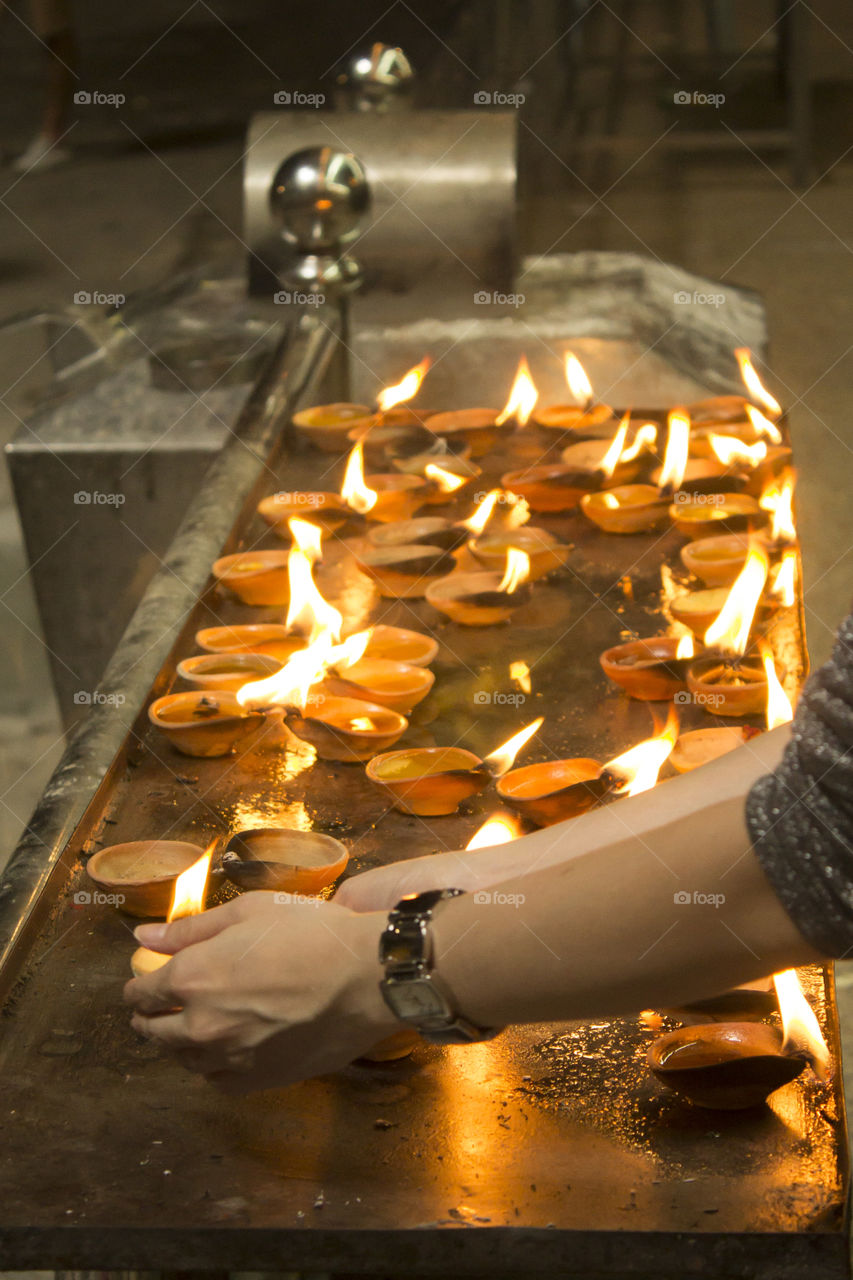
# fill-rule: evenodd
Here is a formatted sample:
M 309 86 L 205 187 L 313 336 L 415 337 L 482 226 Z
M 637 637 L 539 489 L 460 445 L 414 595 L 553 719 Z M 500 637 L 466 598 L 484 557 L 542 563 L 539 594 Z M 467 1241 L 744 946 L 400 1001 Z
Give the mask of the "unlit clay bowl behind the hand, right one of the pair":
M 311 896 L 333 884 L 348 860 L 346 845 L 319 831 L 257 827 L 231 837 L 219 868 L 247 892 L 278 890 Z

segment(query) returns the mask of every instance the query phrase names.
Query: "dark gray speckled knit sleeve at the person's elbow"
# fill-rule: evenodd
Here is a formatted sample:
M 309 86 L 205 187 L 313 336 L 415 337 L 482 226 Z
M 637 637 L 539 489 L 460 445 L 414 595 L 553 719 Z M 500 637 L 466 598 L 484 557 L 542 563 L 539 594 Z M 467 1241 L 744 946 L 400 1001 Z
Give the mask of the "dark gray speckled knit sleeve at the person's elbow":
M 853 614 L 830 660 L 807 681 L 792 741 L 747 797 L 747 826 L 767 878 L 818 951 L 853 948 Z

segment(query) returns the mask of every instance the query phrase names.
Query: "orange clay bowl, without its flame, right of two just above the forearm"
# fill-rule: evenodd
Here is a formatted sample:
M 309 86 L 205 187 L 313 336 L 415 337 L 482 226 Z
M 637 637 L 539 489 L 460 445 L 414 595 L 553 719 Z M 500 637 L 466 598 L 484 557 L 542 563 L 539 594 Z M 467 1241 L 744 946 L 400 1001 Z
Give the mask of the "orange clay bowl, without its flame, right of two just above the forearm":
M 549 827 L 587 813 L 617 785 L 598 760 L 576 756 L 510 769 L 498 780 L 497 792 L 530 822 Z

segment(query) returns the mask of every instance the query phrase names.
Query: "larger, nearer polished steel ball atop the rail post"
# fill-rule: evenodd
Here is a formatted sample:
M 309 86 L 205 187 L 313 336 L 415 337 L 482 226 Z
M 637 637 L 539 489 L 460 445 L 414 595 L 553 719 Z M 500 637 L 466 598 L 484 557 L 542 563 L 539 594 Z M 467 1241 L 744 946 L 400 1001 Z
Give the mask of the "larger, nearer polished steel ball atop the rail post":
M 332 253 L 352 239 L 369 205 L 361 164 L 333 147 L 295 151 L 273 178 L 273 216 L 284 239 L 302 253 Z

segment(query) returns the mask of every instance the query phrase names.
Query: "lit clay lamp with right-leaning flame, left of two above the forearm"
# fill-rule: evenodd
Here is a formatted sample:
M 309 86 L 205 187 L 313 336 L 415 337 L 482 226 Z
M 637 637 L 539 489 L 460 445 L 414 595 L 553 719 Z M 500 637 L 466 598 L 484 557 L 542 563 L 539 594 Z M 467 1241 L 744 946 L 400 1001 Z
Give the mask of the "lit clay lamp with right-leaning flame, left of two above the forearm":
M 484 759 L 459 746 L 412 748 L 374 756 L 366 774 L 402 813 L 424 818 L 456 813 L 462 800 L 478 795 L 511 768 L 542 723 L 539 718 L 526 724 Z

